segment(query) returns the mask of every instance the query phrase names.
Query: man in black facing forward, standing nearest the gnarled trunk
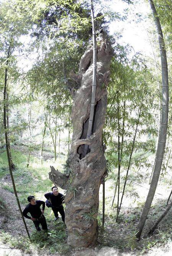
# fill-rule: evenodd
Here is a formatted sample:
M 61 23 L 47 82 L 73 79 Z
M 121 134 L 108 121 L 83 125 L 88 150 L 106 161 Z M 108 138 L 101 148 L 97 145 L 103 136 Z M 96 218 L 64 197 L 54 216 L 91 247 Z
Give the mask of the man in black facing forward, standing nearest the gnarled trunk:
M 57 220 L 58 212 L 62 215 L 62 220 L 65 223 L 65 212 L 63 208 L 63 201 L 64 201 L 64 195 L 58 193 L 58 187 L 54 186 L 52 187 L 52 192 L 45 194 L 44 196 L 46 199 L 49 200 L 49 202 L 52 204 L 52 210 L 55 215 L 55 219 Z

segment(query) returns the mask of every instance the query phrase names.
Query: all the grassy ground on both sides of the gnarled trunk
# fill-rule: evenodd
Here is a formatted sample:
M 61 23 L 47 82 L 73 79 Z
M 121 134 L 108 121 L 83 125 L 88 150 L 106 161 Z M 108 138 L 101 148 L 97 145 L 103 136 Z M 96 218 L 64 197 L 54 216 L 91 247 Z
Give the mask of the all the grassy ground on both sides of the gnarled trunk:
M 65 163 L 65 158 L 58 158 L 57 162 L 55 163 L 45 161 L 41 166 L 40 159 L 31 156 L 31 162 L 28 168 L 26 168 L 26 155 L 23 155 L 18 151 L 13 151 L 13 158 L 14 162 L 17 164 L 14 177 L 16 182 L 16 189 L 18 191 L 19 200 L 22 204 L 22 207 L 24 208 L 28 203 L 26 199 L 30 194 L 35 195 L 37 199 L 45 200 L 44 193 L 50 191 L 50 188 L 52 187 L 52 182 L 49 181 L 48 178 L 49 166 L 53 164 L 55 168 L 58 168 L 62 171 L 62 164 Z M 112 178 L 113 176 L 115 177 L 116 174 L 111 175 L 110 177 Z M 138 175 L 135 171 L 130 173 L 130 179 L 132 181 L 138 181 Z M 167 183 L 164 184 L 163 181 L 164 180 L 160 182 L 160 186 L 162 185 L 162 189 L 167 189 Z M 123 207 L 121 209 L 118 222 L 115 222 L 116 202 L 114 203 L 114 207 L 111 208 L 114 183 L 115 182 L 113 182 L 112 179 L 109 179 L 105 185 L 106 206 L 104 228 L 101 228 L 102 188 L 100 190 L 100 207 L 98 218 L 100 229 L 98 248 L 101 248 L 102 246 L 113 246 L 123 249 L 124 251 L 132 249 L 133 251 L 131 252 L 133 252 L 135 255 L 141 255 L 145 251 L 149 251 L 151 248 L 153 248 L 153 250 L 158 247 L 166 247 L 166 249 L 168 249 L 167 247 L 170 245 L 172 239 L 170 229 L 172 219 L 170 214 L 164 218 L 164 220 L 161 222 L 159 230 L 157 230 L 151 238 L 146 237 L 141 240 L 140 243 L 135 243 L 136 224 L 140 217 L 144 199 L 148 192 L 148 190 L 144 189 L 143 187 L 137 187 L 136 184 L 133 183 L 126 187 L 127 197 L 124 198 Z M 0 154 L 0 186 L 9 192 L 13 192 L 7 168 L 6 152 L 2 152 Z M 146 185 L 144 184 L 144 186 Z M 168 190 L 169 189 L 170 187 Z M 61 192 L 63 193 L 62 190 Z M 138 194 L 140 197 L 135 197 L 136 194 Z M 168 193 L 166 197 L 168 197 Z M 162 199 L 161 195 L 159 195 L 159 197 L 155 197 L 143 235 L 146 235 L 146 232 L 152 225 L 152 222 L 156 220 L 157 212 L 161 213 L 164 210 L 166 197 L 163 197 Z M 52 210 L 50 208 L 48 209 L 47 207 L 45 209 L 45 217 L 49 226 L 48 234 L 44 233 L 44 231 L 41 231 L 40 233 L 36 232 L 34 226 L 31 225 L 31 222 L 26 220 L 27 224 L 29 225 L 29 230 L 31 231 L 31 237 L 33 240 L 32 245 L 29 243 L 27 238 L 24 238 L 24 230 L 24 235 L 20 239 L 14 238 L 13 228 L 11 228 L 8 233 L 6 231 L 2 232 L 0 235 L 1 240 L 3 242 L 7 242 L 13 248 L 21 248 L 25 252 L 31 252 L 35 249 L 38 249 L 40 251 L 46 251 L 48 255 L 57 251 L 67 255 L 70 248 L 67 245 L 65 226 L 61 220 L 54 222 L 54 215 Z M 154 254 L 152 253 L 152 255 Z

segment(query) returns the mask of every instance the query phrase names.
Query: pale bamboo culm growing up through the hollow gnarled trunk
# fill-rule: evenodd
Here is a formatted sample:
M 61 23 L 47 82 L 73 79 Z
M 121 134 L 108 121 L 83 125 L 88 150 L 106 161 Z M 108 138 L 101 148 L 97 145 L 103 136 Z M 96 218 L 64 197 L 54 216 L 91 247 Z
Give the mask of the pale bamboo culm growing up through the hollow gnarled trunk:
M 94 117 L 94 107 L 96 98 L 96 72 L 97 72 L 97 45 L 96 45 L 96 26 L 94 21 L 94 8 L 91 0 L 91 20 L 92 20 L 92 41 L 93 41 L 93 72 L 92 72 L 92 95 L 91 95 L 91 108 L 89 113 L 89 123 L 87 138 L 91 136 L 93 117 Z M 88 153 L 89 146 L 85 144 L 84 146 L 84 156 Z

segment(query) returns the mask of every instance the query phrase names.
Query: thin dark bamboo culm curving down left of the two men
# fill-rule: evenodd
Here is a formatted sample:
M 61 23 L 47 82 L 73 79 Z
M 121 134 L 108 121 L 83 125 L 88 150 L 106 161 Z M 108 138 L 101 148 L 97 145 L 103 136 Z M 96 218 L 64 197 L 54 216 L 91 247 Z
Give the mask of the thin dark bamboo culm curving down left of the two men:
M 8 66 L 8 59 L 10 57 L 10 49 L 11 49 L 11 47 L 9 46 L 6 66 Z M 26 232 L 28 234 L 29 240 L 31 241 L 29 231 L 28 231 L 28 228 L 26 226 L 26 222 L 24 220 L 23 213 L 22 213 L 22 210 L 21 210 L 21 206 L 20 206 L 20 203 L 19 203 L 18 195 L 17 195 L 17 192 L 16 192 L 16 186 L 15 186 L 15 181 L 14 181 L 14 178 L 13 178 L 13 172 L 12 172 L 11 161 L 10 161 L 10 151 L 9 151 L 9 148 L 8 148 L 8 133 L 7 133 L 7 127 L 6 127 L 6 84 L 7 84 L 7 68 L 5 69 L 5 82 L 4 82 L 4 91 L 3 91 L 3 125 L 4 125 L 4 133 L 5 133 L 6 154 L 7 154 L 7 158 L 8 158 L 9 171 L 10 171 L 10 176 L 11 176 L 11 181 L 12 181 L 12 184 L 13 184 L 15 197 L 16 197 L 16 200 L 17 200 L 17 203 L 18 203 L 18 208 L 19 208 L 19 211 L 21 213 L 21 217 L 22 217 Z

